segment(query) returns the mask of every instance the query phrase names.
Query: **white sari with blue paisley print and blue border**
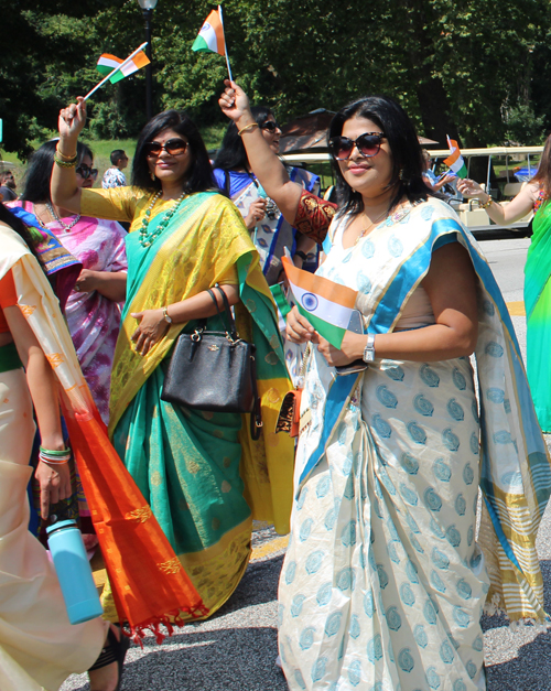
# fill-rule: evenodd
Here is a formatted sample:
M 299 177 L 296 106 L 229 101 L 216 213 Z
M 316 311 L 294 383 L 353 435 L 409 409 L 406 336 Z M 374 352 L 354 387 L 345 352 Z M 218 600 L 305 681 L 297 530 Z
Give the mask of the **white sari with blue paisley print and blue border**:
M 301 412 L 310 409 L 311 424 L 280 580 L 280 655 L 293 691 L 482 690 L 486 598 L 511 619 L 544 619 L 534 540 L 549 458 L 475 241 L 429 199 L 353 248 L 329 239 L 318 273 L 358 290 L 366 330 L 385 333 L 435 242 L 452 236 L 479 278 L 478 402 L 465 357 L 377 359 L 347 377 L 315 349 L 310 358 Z

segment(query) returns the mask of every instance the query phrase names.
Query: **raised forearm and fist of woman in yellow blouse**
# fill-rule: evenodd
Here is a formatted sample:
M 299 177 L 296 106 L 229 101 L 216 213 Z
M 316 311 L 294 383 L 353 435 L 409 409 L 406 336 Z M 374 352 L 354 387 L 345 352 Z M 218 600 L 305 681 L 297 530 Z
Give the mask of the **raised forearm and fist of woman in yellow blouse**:
M 76 184 L 76 143 L 86 125 L 86 101 L 82 96 L 60 111 L 60 142 L 52 169 L 50 194 L 55 206 L 80 213 L 80 188 Z

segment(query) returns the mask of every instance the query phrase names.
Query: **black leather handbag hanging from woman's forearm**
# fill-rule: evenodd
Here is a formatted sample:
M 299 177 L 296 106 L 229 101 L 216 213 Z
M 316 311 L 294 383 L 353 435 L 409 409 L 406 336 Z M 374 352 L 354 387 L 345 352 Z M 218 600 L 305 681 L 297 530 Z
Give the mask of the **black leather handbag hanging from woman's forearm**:
M 252 439 L 260 436 L 262 417 L 257 389 L 256 346 L 239 338 L 226 293 L 224 314 L 212 290 L 225 332 L 206 331 L 201 320 L 193 334 L 181 334 L 164 378 L 161 399 L 213 412 L 250 412 Z

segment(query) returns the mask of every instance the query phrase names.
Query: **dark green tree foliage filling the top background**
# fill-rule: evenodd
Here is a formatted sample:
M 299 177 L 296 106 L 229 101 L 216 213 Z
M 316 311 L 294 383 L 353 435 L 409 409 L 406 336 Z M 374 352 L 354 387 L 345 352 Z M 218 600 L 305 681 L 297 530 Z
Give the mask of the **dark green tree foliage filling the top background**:
M 136 0 L 23 0 L 15 11 L 0 0 L 0 7 L 9 22 L 0 117 L 11 150 L 24 151 L 37 127 L 55 127 L 60 105 L 94 86 L 100 53 L 126 57 L 144 36 Z M 186 109 L 202 126 L 224 121 L 217 98 L 225 61 L 191 51 L 213 7 L 159 0 L 153 12 L 155 108 Z M 223 7 L 236 79 L 281 121 L 385 93 L 441 144 L 446 133 L 466 145 L 507 138 L 539 143 L 551 105 L 545 0 L 225 0 Z M 136 136 L 144 98 L 143 71 L 108 85 L 93 97 L 89 133 Z

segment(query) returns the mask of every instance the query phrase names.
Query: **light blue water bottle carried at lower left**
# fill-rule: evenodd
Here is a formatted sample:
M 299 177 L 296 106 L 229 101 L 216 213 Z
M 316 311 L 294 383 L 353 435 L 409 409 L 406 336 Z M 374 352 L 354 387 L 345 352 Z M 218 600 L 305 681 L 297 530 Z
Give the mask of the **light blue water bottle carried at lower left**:
M 104 609 L 76 522 L 62 520 L 46 532 L 69 622 L 82 624 L 100 616 Z

